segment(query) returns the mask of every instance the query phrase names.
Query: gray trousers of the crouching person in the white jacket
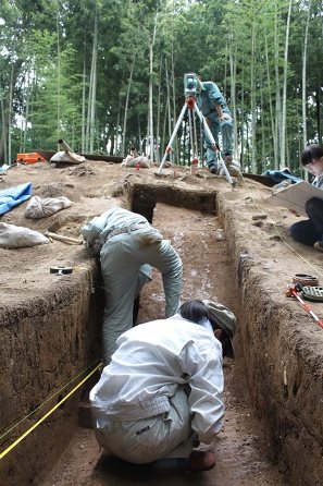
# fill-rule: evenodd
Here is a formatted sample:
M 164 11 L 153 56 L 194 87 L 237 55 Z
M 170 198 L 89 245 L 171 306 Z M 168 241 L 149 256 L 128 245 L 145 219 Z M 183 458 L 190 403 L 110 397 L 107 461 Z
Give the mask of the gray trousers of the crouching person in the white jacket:
M 197 435 L 192 432 L 188 397 L 178 387 L 170 399 L 171 410 L 136 421 L 113 421 L 95 417 L 97 440 L 107 452 L 135 464 L 159 459 L 188 458 Z

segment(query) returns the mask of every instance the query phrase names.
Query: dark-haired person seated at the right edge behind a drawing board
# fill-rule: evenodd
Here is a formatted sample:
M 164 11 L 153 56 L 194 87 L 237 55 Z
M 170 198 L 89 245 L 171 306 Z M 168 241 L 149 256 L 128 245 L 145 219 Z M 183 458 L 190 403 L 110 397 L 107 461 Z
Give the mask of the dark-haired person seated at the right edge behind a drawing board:
M 308 145 L 301 155 L 302 166 L 314 175 L 313 185 L 323 190 L 323 146 Z M 323 252 L 323 192 L 322 199 L 312 197 L 306 203 L 309 219 L 290 227 L 290 236 L 300 243 Z

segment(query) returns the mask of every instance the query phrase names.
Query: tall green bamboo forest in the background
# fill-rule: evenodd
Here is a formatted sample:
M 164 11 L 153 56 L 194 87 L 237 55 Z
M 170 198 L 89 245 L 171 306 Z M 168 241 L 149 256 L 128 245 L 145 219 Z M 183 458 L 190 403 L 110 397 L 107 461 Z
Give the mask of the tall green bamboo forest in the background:
M 59 138 L 158 163 L 198 73 L 227 100 L 244 171 L 301 175 L 323 136 L 322 37 L 322 0 L 1 0 L 0 165 Z

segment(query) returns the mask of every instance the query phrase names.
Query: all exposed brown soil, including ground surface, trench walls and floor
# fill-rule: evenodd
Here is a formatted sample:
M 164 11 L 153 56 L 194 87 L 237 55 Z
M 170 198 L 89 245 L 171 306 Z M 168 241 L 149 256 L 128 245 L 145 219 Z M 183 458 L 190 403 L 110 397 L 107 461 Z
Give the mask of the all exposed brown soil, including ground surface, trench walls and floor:
M 238 316 L 237 357 L 225 362 L 227 411 L 214 445 L 218 465 L 194 479 L 176 476 L 176 482 L 256 486 L 283 485 L 288 478 L 293 485 L 321 485 L 323 331 L 284 291 L 296 272 L 314 274 L 322 281 L 323 255 L 290 242 L 287 228 L 295 217 L 265 203 L 270 189 L 250 180 L 233 189 L 203 169 L 195 177 L 188 169 L 164 169 L 158 177 L 153 169 L 137 172 L 100 161 L 10 169 L 0 177 L 0 189 L 23 182 L 33 182 L 34 194 L 65 195 L 73 204 L 52 217 L 30 220 L 24 203 L 1 221 L 41 232 L 55 223 L 59 233 L 77 238 L 86 220 L 112 205 L 132 208 L 152 220 L 181 254 L 183 300 L 216 299 Z M 266 218 L 257 219 L 259 215 Z M 53 241 L 0 248 L 0 363 L 5 370 L 0 418 L 7 429 L 53 392 L 57 403 L 66 394 L 61 387 L 100 359 L 102 289 L 97 263 L 83 245 Z M 73 274 L 51 275 L 52 265 L 72 266 Z M 158 274 L 140 303 L 140 321 L 163 315 Z M 310 305 L 322 316 L 323 304 Z M 102 454 L 92 432 L 77 428 L 79 399 L 77 391 L 5 455 L 2 484 L 170 482 Z M 1 450 L 42 414 L 33 414 L 2 438 Z M 39 479 L 60 452 L 57 467 Z

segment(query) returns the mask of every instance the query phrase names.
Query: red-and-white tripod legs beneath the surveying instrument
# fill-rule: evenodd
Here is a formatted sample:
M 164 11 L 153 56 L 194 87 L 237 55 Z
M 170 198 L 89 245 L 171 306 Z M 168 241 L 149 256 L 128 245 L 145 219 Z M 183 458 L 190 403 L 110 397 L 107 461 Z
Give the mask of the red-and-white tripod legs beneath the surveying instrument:
M 198 118 L 200 119 L 201 122 L 201 127 L 202 131 L 206 133 L 207 137 L 209 138 L 210 143 L 212 144 L 212 149 L 215 151 L 216 154 L 216 159 L 218 159 L 218 163 L 219 163 L 219 169 L 223 169 L 225 177 L 227 179 L 227 181 L 235 186 L 235 182 L 233 181 L 231 174 L 228 173 L 227 167 L 225 165 L 225 161 L 223 160 L 223 157 L 221 155 L 221 150 L 219 145 L 215 143 L 214 137 L 212 135 L 212 132 L 208 125 L 208 123 L 204 120 L 204 117 L 202 114 L 202 112 L 200 111 L 199 107 L 197 106 L 196 102 L 196 96 L 194 95 L 188 95 L 186 97 L 185 104 L 182 108 L 181 114 L 176 121 L 174 131 L 171 135 L 169 145 L 166 146 L 163 159 L 161 161 L 161 165 L 159 167 L 159 171 L 158 173 L 160 174 L 163 170 L 163 166 L 166 161 L 167 155 L 172 151 L 172 147 L 173 147 L 173 143 L 175 139 L 175 136 L 178 132 L 178 129 L 181 126 L 181 123 L 183 121 L 183 118 L 185 116 L 186 110 L 188 111 L 188 125 L 189 125 L 189 138 L 190 138 L 190 153 L 191 153 L 191 165 L 196 166 L 198 163 L 198 144 L 197 144 L 197 131 L 196 131 L 196 118 L 195 118 L 195 113 L 198 116 Z

